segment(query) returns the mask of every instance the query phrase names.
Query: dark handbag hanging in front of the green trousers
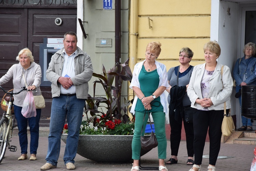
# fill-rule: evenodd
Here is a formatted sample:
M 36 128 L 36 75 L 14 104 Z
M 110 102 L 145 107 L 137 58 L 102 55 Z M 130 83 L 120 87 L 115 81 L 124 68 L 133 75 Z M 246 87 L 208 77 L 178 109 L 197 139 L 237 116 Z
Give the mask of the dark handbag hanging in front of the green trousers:
M 147 111 L 147 114 L 148 114 L 148 118 L 150 120 L 150 114 L 148 113 L 148 111 Z M 144 120 L 145 120 L 145 115 L 146 115 L 146 111 L 145 111 L 145 114 L 144 114 L 143 123 L 144 123 Z M 151 126 L 151 130 L 152 130 L 151 136 L 150 137 L 148 137 L 148 136 L 141 136 L 140 137 L 141 148 L 144 149 L 145 151 L 150 151 L 151 149 L 157 147 L 157 145 L 158 145 L 155 133 L 153 132 L 153 128 L 152 128 L 152 125 L 151 125 L 151 120 L 150 120 L 150 126 Z M 142 125 L 142 128 L 141 128 L 141 133 L 142 133 L 142 130 L 143 130 L 143 125 Z

